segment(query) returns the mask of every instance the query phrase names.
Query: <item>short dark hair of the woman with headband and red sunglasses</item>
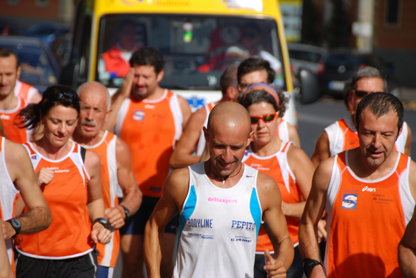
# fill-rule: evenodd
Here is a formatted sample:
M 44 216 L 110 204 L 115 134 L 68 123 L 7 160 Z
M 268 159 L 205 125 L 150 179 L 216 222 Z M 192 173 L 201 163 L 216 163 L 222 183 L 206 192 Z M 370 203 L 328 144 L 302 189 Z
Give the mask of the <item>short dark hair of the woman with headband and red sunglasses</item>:
M 252 104 L 257 104 L 261 102 L 270 103 L 272 104 L 275 111 L 279 112 L 279 117 L 283 118 L 284 113 L 286 112 L 286 104 L 289 102 L 289 98 L 286 97 L 286 95 L 283 91 L 281 91 L 281 89 L 276 88 L 276 86 L 270 86 L 272 87 L 272 89 L 275 89 L 277 97 L 279 98 L 279 104 L 276 103 L 275 98 L 273 98 L 273 96 L 270 95 L 270 93 L 262 89 L 255 89 L 253 91 L 250 91 L 250 93 L 241 93 L 237 97 L 237 99 L 239 100 L 239 103 L 243 105 L 246 109 Z

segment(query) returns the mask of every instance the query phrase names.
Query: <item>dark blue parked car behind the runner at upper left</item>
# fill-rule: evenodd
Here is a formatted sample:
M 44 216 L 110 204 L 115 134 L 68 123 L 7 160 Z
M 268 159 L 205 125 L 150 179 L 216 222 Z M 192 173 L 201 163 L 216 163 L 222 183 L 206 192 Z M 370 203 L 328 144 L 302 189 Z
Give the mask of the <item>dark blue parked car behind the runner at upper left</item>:
M 51 50 L 35 37 L 0 36 L 0 48 L 8 48 L 19 57 L 19 80 L 35 86 L 42 93 L 57 84 L 60 71 Z

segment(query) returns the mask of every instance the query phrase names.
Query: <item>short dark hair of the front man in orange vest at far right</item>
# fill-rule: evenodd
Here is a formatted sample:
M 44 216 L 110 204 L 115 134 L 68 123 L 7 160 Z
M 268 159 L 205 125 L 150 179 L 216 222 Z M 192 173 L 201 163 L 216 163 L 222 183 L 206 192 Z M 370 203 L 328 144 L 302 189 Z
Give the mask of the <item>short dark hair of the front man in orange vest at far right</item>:
M 356 112 L 356 125 L 357 131 L 360 126 L 361 113 L 367 108 L 370 112 L 376 116 L 376 118 L 390 112 L 397 114 L 397 131 L 400 131 L 404 122 L 404 106 L 395 95 L 391 93 L 369 93 L 358 103 Z

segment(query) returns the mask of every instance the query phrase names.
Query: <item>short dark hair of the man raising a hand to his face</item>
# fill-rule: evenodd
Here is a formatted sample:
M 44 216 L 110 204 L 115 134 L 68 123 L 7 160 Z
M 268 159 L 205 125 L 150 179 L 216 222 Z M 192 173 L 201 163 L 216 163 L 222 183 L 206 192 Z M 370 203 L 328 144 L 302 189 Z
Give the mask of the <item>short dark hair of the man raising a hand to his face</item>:
M 146 46 L 140 48 L 133 53 L 130 58 L 130 66 L 154 66 L 157 74 L 164 68 L 163 55 L 159 53 L 155 48 Z

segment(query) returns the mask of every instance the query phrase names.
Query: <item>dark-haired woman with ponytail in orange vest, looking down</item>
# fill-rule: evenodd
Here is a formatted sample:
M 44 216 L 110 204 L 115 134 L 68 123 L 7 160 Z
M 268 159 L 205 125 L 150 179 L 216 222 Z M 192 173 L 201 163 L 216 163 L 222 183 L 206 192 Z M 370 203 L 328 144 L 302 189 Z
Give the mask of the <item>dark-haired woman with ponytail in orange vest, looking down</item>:
M 24 147 L 52 223 L 42 232 L 16 238 L 17 277 L 95 277 L 94 245 L 111 239 L 101 197 L 100 158 L 69 140 L 79 112 L 76 91 L 59 85 L 46 89 L 38 104 L 20 112 L 24 127 L 44 127 L 42 138 Z

